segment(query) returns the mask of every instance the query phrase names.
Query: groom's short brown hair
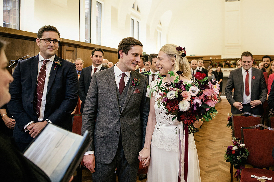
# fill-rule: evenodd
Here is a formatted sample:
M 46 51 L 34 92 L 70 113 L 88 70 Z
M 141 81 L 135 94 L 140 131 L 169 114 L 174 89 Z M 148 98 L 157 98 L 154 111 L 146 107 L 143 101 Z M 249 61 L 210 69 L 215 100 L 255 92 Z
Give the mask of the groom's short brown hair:
M 122 50 L 126 55 L 128 55 L 128 51 L 131 49 L 132 46 L 142 46 L 143 48 L 143 44 L 139 40 L 133 37 L 123 38 L 117 48 L 118 59 L 120 59 L 120 50 Z

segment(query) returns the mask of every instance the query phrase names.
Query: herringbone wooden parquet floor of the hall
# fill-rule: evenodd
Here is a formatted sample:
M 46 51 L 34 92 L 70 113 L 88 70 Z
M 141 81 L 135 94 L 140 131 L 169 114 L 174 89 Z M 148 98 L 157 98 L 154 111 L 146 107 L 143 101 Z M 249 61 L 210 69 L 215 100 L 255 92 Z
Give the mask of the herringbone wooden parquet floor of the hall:
M 230 181 L 230 164 L 223 161 L 223 156 L 227 146 L 232 144 L 232 130 L 225 126 L 227 124 L 227 113 L 230 113 L 231 107 L 226 99 L 217 103 L 215 107 L 219 112 L 217 116 L 213 120 L 204 123 L 194 136 L 202 182 Z M 236 169 L 233 169 L 234 173 L 235 171 Z M 83 170 L 82 181 L 92 181 L 91 173 L 88 170 Z M 142 182 L 145 181 L 146 179 L 142 180 Z M 236 181 L 236 179 L 234 178 L 233 181 Z M 138 178 L 137 182 L 140 182 Z

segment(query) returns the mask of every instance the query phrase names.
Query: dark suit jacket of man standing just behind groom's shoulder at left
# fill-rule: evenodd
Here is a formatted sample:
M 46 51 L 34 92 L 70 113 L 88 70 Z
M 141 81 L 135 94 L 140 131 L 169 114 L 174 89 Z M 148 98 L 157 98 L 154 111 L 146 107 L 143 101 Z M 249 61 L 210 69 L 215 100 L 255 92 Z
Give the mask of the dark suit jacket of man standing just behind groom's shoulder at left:
M 101 71 L 103 69 L 107 69 L 107 68 L 102 66 L 99 71 Z M 91 81 L 91 71 L 92 71 L 92 66 L 88 66 L 88 67 L 82 69 L 82 72 L 80 75 L 79 97 L 80 97 L 80 100 L 82 101 L 80 113 L 83 113 L 83 109 L 84 109 L 84 105 L 85 105 L 85 101 L 86 101 L 86 95 L 88 94 L 88 88 L 89 88 L 90 81 Z

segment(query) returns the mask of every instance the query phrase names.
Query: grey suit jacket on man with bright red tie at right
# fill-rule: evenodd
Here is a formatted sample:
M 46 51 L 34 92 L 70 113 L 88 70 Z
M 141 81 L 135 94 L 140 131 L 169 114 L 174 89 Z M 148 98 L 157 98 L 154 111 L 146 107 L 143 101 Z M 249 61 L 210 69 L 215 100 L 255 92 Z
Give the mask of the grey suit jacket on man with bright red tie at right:
M 257 68 L 252 68 L 251 70 L 251 76 L 253 77 L 251 79 L 251 101 L 254 101 L 256 99 L 260 100 L 262 103 L 266 99 L 267 95 L 267 88 L 265 83 L 265 77 L 263 75 L 263 71 Z M 232 97 L 232 90 L 234 89 L 234 95 Z M 227 79 L 227 83 L 225 86 L 225 96 L 227 98 L 227 101 L 231 105 L 231 113 L 232 114 L 241 114 L 241 111 L 239 111 L 236 107 L 233 106 L 234 102 L 242 102 L 243 101 L 243 73 L 242 68 L 234 69 L 230 71 L 229 77 Z M 263 114 L 263 105 L 258 105 L 254 108 L 252 108 L 252 111 L 254 113 L 257 113 L 257 115 Z

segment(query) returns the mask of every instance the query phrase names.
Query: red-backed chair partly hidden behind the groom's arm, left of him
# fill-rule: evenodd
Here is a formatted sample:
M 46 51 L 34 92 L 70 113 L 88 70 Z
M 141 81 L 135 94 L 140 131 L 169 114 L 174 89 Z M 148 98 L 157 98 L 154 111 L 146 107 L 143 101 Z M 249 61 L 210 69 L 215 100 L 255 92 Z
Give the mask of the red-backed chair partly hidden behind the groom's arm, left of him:
M 82 128 L 82 114 L 73 114 L 72 132 L 81 135 Z M 76 169 L 75 181 L 82 181 L 82 166 L 84 166 L 83 159 Z

